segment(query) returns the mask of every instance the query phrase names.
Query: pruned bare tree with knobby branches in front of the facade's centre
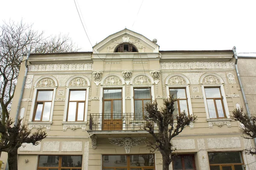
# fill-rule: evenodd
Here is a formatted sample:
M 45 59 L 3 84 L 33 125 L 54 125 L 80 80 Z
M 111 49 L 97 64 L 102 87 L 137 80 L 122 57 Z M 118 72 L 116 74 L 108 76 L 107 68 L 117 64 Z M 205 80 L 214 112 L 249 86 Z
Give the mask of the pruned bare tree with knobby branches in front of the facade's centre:
M 172 147 L 171 140 L 180 134 L 184 127 L 195 121 L 196 116 L 189 116 L 184 111 L 176 115 L 174 119 L 174 105 L 177 99 L 170 96 L 164 100 L 165 107 L 157 108 L 157 102 L 146 103 L 145 109 L 148 116 L 145 116 L 144 130 L 147 130 L 154 138 L 154 141 L 148 140 L 147 147 L 151 152 L 158 150 L 163 158 L 163 170 L 169 170 L 169 164 L 172 162 Z M 155 130 L 157 127 L 157 130 Z

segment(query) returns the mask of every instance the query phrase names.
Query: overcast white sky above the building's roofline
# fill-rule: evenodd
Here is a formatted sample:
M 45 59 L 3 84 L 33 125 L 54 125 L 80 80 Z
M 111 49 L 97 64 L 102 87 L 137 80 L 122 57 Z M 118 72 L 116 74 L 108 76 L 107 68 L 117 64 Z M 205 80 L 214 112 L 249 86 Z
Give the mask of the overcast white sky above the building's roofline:
M 160 50 L 236 46 L 238 53 L 256 53 L 255 0 L 76 0 L 76 4 L 92 45 L 126 27 L 150 40 L 156 38 Z M 81 51 L 92 51 L 73 0 L 1 0 L 0 6 L 0 24 L 23 18 L 47 35 L 69 34 Z

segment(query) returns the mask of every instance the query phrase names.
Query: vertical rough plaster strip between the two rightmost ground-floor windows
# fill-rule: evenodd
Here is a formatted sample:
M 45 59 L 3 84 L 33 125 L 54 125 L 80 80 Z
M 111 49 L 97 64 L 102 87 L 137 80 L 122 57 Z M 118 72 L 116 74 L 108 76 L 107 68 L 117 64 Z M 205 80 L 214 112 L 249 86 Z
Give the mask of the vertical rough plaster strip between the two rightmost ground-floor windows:
M 199 164 L 201 167 L 201 170 L 209 170 L 209 162 L 208 162 L 208 156 L 207 151 L 205 147 L 205 141 L 204 139 L 197 139 L 198 143 L 198 156 L 199 156 Z

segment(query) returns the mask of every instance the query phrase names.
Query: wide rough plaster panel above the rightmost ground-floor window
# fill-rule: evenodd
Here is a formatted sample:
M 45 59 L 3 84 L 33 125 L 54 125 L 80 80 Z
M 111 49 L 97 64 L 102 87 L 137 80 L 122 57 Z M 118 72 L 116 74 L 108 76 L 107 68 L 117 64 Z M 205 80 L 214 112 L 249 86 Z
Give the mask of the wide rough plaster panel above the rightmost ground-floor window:
M 207 143 L 208 143 L 208 148 L 209 149 L 241 147 L 239 137 L 208 138 Z

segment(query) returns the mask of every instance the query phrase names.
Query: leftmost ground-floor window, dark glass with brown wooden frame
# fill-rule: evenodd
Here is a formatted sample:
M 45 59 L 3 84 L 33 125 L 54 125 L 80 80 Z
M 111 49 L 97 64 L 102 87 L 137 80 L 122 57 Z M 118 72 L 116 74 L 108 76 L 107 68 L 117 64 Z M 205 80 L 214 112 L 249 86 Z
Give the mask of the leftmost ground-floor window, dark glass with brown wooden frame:
M 40 155 L 38 170 L 81 170 L 82 156 Z

